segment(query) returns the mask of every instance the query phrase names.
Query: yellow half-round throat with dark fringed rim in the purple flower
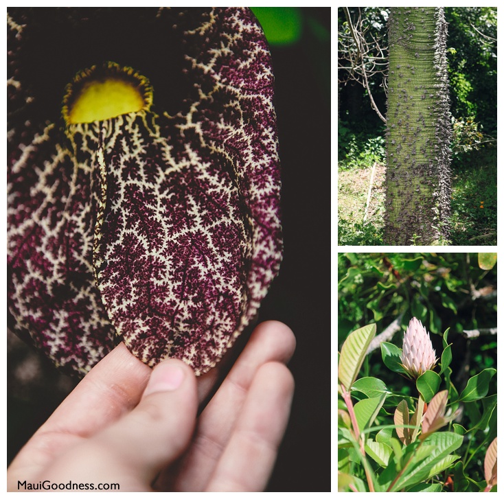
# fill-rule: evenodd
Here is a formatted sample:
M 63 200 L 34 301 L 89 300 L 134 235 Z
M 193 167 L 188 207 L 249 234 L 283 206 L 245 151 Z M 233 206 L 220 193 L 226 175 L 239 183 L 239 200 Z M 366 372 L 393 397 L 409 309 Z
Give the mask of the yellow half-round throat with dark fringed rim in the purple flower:
M 106 62 L 84 69 L 67 85 L 62 114 L 67 124 L 91 123 L 136 113 L 151 104 L 152 87 L 146 77 Z

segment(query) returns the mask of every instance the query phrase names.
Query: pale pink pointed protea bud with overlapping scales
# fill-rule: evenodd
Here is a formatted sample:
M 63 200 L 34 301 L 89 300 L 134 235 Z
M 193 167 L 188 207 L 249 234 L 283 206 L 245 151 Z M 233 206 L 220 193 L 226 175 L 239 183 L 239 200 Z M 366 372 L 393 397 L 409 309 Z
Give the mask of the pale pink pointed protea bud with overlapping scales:
M 425 327 L 416 318 L 409 321 L 408 329 L 402 340 L 402 367 L 413 378 L 434 367 L 437 362 L 436 352 Z

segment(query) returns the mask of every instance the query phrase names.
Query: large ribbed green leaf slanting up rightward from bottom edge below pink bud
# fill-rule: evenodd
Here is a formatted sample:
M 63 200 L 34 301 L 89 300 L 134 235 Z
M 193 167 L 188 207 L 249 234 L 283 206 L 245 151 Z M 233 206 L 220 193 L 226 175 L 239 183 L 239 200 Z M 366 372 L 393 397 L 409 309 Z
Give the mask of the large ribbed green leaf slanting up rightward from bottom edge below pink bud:
M 427 480 L 431 476 L 432 469 L 438 463 L 446 463 L 444 461 L 448 454 L 457 450 L 463 442 L 463 437 L 451 432 L 437 432 L 429 435 L 424 444 L 431 447 L 431 452 L 427 456 L 423 456 L 420 452 L 413 454 L 413 459 L 407 465 L 404 473 L 391 487 L 391 491 L 395 492 L 404 489 L 409 485 L 415 485 L 419 482 Z M 414 443 L 411 445 L 415 445 Z M 422 459 L 419 459 L 419 456 Z M 449 460 L 448 460 L 449 461 Z M 447 464 L 449 466 L 449 464 Z

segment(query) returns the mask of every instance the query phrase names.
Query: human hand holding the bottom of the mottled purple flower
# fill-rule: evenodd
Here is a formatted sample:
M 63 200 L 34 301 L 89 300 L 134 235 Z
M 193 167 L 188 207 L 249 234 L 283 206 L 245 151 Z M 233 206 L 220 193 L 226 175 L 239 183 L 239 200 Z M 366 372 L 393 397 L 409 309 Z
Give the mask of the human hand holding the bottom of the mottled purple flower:
M 294 383 L 285 363 L 294 348 L 286 325 L 258 325 L 196 418 L 216 369 L 196 378 L 170 359 L 152 370 L 120 344 L 12 461 L 8 490 L 24 490 L 23 482 L 71 482 L 84 490 L 99 484 L 119 484 L 120 491 L 264 490 L 290 413 Z

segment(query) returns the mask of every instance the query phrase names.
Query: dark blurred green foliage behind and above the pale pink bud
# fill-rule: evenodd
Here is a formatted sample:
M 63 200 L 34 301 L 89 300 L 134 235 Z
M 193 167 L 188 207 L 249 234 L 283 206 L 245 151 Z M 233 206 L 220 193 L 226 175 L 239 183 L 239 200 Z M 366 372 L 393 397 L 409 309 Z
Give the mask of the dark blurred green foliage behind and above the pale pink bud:
M 446 356 L 455 359 L 451 363 L 454 379 L 463 377 L 461 368 L 468 369 L 464 371 L 468 377 L 496 368 L 496 336 L 468 340 L 462 334 L 464 329 L 491 328 L 497 323 L 497 265 L 491 270 L 480 268 L 477 253 L 339 253 L 338 275 L 339 345 L 354 329 L 374 322 L 382 331 L 404 313 L 402 330 L 415 316 L 431 332 L 444 368 L 442 376 L 448 373 L 449 359 L 441 354 L 450 344 Z M 468 341 L 477 348 L 466 359 Z M 402 373 L 402 368 L 393 368 L 400 363 L 401 346 L 402 334 L 385 340 L 381 351 L 378 348 L 372 354 L 374 362 L 366 375 L 376 375 L 376 364 L 383 362 L 387 371 Z M 393 384 L 397 378 L 397 374 L 387 375 L 383 380 Z M 457 382 L 455 388 L 461 393 L 464 387 Z

